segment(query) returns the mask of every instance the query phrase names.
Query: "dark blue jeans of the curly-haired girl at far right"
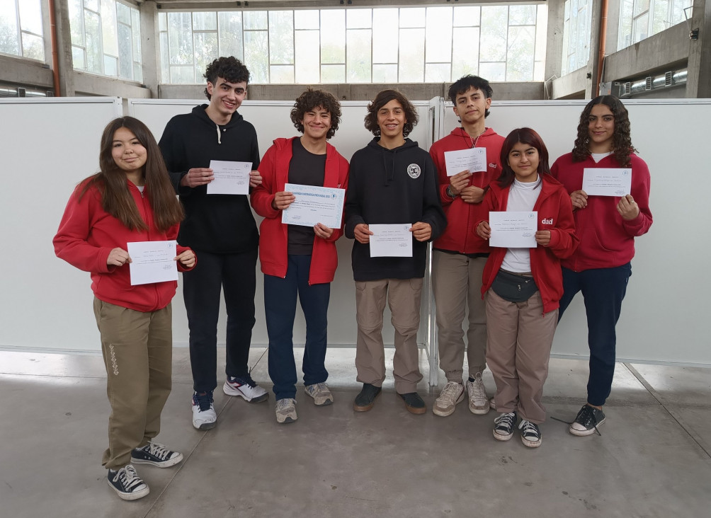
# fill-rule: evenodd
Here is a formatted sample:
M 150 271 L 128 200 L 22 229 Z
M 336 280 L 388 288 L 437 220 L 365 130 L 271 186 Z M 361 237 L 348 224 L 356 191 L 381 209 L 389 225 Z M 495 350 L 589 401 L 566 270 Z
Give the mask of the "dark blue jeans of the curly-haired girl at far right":
M 563 268 L 563 296 L 558 320 L 578 291 L 582 292 L 587 315 L 587 345 L 590 348 L 590 374 L 587 380 L 587 402 L 605 404 L 615 372 L 615 325 L 620 318 L 622 299 L 632 266 L 572 271 Z

